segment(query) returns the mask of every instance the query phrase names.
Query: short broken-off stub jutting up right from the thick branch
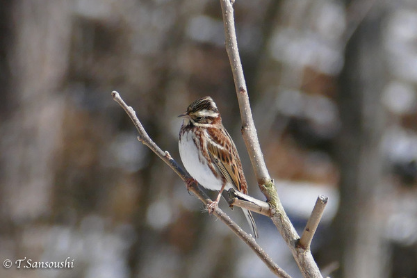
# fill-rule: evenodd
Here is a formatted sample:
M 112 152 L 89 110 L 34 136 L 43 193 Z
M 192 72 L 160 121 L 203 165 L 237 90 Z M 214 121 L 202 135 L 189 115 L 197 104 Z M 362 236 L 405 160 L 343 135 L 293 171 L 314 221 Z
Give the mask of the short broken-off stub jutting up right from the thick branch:
M 316 204 L 314 205 L 313 211 L 311 212 L 310 218 L 307 221 L 304 232 L 302 233 L 298 243 L 298 245 L 304 250 L 310 250 L 311 240 L 313 240 L 313 236 L 316 233 L 318 223 L 320 223 L 323 212 L 325 211 L 327 199 L 329 198 L 325 195 L 320 195 L 317 197 Z

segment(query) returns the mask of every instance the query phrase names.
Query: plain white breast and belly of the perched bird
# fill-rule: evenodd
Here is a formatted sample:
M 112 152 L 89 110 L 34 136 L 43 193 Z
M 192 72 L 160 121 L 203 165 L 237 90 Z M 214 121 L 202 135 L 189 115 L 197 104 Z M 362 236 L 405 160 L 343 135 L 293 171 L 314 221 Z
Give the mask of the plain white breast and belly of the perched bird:
M 179 140 L 179 155 L 188 173 L 204 188 L 209 190 L 220 190 L 222 188 L 220 179 L 216 179 L 207 165 L 206 158 L 199 153 L 195 146 L 190 131 L 184 133 Z

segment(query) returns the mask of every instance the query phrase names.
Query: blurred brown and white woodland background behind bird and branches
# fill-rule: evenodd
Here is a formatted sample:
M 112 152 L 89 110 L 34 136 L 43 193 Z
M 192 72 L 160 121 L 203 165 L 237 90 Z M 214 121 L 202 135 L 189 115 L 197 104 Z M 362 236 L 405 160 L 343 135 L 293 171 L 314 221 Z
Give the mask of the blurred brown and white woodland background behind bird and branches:
M 0 277 L 273 277 L 136 140 L 120 92 L 180 163 L 191 101 L 211 95 L 245 145 L 219 1 L 0 1 Z M 271 176 L 332 277 L 417 277 L 417 2 L 237 0 L 240 55 Z M 213 193 L 211 193 L 213 194 Z M 213 196 L 213 195 L 212 195 Z M 240 210 L 221 207 L 249 230 Z M 259 244 L 301 277 L 277 229 Z

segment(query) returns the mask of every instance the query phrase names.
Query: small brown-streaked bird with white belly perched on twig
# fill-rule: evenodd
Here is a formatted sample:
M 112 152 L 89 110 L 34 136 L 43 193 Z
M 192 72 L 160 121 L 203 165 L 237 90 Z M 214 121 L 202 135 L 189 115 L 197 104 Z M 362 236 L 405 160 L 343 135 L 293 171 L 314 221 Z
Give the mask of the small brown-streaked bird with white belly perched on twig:
M 247 195 L 247 182 L 236 146 L 222 124 L 222 117 L 211 97 L 202 97 L 179 115 L 183 124 L 179 131 L 179 155 L 192 179 L 208 190 L 218 190 L 208 212 L 218 205 L 223 190 L 234 188 Z M 252 213 L 242 208 L 255 238 L 259 237 Z

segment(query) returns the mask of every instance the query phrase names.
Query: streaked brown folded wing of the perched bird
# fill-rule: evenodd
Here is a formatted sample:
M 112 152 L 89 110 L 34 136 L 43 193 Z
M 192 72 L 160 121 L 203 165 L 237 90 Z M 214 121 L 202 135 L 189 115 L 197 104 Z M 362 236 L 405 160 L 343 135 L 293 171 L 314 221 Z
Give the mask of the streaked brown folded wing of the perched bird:
M 208 154 L 218 170 L 237 190 L 247 194 L 247 184 L 243 175 L 242 163 L 233 140 L 226 129 L 207 129 Z

